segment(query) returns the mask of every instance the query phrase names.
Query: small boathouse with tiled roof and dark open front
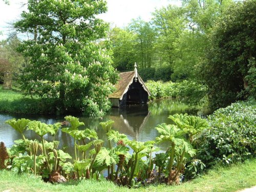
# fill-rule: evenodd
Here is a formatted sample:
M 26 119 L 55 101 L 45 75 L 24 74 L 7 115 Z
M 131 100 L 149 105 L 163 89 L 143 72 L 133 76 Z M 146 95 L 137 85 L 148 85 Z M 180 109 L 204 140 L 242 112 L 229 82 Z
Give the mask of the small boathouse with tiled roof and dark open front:
M 135 63 L 134 71 L 119 73 L 119 80 L 115 85 L 116 91 L 109 98 L 112 106 L 120 107 L 126 104 L 147 103 L 150 91 L 137 72 Z

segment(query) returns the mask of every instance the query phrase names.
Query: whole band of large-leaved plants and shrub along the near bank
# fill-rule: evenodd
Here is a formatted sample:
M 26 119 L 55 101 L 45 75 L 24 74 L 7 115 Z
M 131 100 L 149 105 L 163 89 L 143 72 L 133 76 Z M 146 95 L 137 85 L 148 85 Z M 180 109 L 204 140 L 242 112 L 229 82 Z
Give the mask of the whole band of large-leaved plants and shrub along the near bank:
M 114 121 L 110 120 L 100 123 L 108 136 L 109 147 L 103 147 L 106 146 L 105 141 L 97 139 L 94 130 L 78 130 L 81 125 L 79 119 L 70 116 L 66 119 L 73 122 L 71 127 L 74 129 L 63 128 L 61 131 L 74 137 L 73 159 L 57 149 L 58 141 L 47 142 L 43 138 L 47 133 L 55 134 L 58 123 L 47 125 L 31 121 L 28 129 L 34 130 L 42 142 L 27 139 L 15 141 L 8 149 L 7 164 L 15 172 L 33 172 L 44 178 L 60 168 L 61 174 L 70 179 L 82 179 L 84 176 L 99 179 L 101 172 L 108 169 L 108 179 L 119 185 L 135 186 L 140 184 L 139 181 L 178 183 L 181 178 L 188 180 L 201 175 L 205 167 L 216 161 L 230 163 L 254 157 L 254 114 L 254 100 L 220 109 L 208 120 L 175 114 L 169 116 L 175 124 L 157 125 L 159 136 L 156 141 L 146 142 L 131 141 L 126 135 L 112 130 Z M 90 139 L 95 140 L 87 142 Z M 115 142 L 114 145 L 110 144 L 111 141 Z M 160 142 L 167 142 L 168 145 L 164 153 L 157 153 L 154 157 L 154 153 L 160 150 L 155 144 Z M 68 163 L 68 159 L 72 159 L 72 163 Z

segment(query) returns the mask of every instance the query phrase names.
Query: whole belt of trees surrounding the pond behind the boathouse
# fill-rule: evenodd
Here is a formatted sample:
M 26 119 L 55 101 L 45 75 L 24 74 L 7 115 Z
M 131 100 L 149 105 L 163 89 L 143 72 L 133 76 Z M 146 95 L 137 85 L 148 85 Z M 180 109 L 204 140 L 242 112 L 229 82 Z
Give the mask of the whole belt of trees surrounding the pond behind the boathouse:
M 206 86 L 213 110 L 255 97 L 255 0 L 184 0 L 123 29 L 97 18 L 106 2 L 82 2 L 28 1 L 15 32 L 1 41 L 2 82 L 13 79 L 60 113 L 103 115 L 115 69 L 130 71 L 137 62 L 144 81 Z

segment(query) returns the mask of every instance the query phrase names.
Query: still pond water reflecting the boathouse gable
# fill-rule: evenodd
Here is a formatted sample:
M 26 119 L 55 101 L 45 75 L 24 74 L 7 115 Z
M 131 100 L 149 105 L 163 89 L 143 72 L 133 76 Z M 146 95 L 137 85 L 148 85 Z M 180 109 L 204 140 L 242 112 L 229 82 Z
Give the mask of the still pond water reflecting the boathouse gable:
M 108 114 L 102 118 L 79 117 L 79 120 L 84 122 L 86 128 L 94 129 L 99 139 L 106 140 L 104 131 L 101 129 L 99 122 L 112 119 L 115 121 L 113 130 L 119 131 L 127 135 L 131 140 L 148 141 L 155 140 L 158 132 L 155 129 L 156 125 L 161 123 L 172 123 L 168 119 L 169 115 L 176 113 L 188 113 L 197 115 L 197 112 L 189 110 L 182 102 L 176 100 L 156 100 L 144 105 L 127 105 L 124 109 L 113 108 Z M 64 116 L 38 116 L 38 115 L 23 115 L 23 114 L 0 114 L 0 142 L 3 141 L 7 147 L 14 144 L 17 139 L 22 139 L 21 135 L 16 132 L 10 125 L 5 124 L 8 119 L 27 118 L 30 120 L 38 120 L 47 124 L 64 121 Z M 84 129 L 85 127 L 80 127 Z M 24 133 L 27 139 L 39 139 L 33 131 Z M 51 135 L 45 135 L 44 138 L 52 141 Z M 58 131 L 55 140 L 60 141 L 59 148 L 67 147 L 67 152 L 73 154 L 73 138 L 66 133 Z M 160 148 L 165 148 L 164 144 Z

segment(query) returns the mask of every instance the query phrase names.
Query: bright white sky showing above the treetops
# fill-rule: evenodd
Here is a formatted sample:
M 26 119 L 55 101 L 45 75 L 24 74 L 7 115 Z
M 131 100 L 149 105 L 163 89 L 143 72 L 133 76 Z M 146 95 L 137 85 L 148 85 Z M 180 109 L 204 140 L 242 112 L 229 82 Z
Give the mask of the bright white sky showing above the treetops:
M 26 0 L 10 0 L 10 5 L 5 5 L 0 0 L 0 40 L 7 37 L 8 23 L 12 23 L 19 18 L 20 13 L 26 10 L 22 7 Z M 180 5 L 178 0 L 107 0 L 108 12 L 99 17 L 109 22 L 111 26 L 123 28 L 131 22 L 133 18 L 141 17 L 145 21 L 149 21 L 152 12 L 155 9 L 166 7 L 169 4 Z

